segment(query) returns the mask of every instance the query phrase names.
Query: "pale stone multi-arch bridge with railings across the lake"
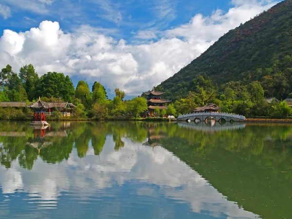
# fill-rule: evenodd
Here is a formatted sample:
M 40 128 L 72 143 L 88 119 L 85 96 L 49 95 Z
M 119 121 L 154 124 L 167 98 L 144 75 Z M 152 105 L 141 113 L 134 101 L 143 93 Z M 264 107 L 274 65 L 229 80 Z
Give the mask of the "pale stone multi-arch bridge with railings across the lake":
M 178 117 L 178 121 L 194 121 L 196 123 L 201 121 L 206 122 L 208 119 L 215 120 L 216 122 L 243 122 L 245 120 L 245 116 L 225 112 L 194 112 L 180 115 Z

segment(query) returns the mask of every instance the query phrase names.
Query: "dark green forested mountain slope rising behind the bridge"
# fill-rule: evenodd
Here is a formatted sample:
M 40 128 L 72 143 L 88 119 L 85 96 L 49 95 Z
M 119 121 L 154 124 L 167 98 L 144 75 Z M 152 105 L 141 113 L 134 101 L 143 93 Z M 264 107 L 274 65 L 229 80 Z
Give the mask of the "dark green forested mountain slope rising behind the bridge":
M 241 24 L 207 51 L 157 86 L 164 98 L 184 98 L 192 80 L 206 74 L 219 86 L 229 81 L 263 81 L 266 75 L 292 68 L 292 0 Z M 282 97 L 282 96 L 281 96 Z

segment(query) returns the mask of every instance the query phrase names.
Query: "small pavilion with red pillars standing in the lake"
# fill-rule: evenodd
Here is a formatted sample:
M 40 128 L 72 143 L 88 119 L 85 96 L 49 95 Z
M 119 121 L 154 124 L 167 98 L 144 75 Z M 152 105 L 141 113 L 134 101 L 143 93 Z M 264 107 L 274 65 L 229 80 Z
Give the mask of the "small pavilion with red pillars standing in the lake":
M 46 102 L 41 101 L 40 98 L 38 98 L 37 102 L 30 104 L 28 107 L 34 110 L 34 121 L 31 123 L 31 125 L 35 126 L 49 125 L 46 122 L 46 110 L 50 109 L 50 106 Z

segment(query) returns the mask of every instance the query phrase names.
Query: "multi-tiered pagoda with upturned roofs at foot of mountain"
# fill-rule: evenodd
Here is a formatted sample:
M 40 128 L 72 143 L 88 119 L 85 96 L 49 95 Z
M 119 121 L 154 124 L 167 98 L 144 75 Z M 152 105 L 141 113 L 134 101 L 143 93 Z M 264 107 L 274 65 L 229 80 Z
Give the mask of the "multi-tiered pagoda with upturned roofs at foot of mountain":
M 152 116 L 154 114 L 154 110 L 158 108 L 159 110 L 167 110 L 166 103 L 170 102 L 170 100 L 161 99 L 160 96 L 164 94 L 162 91 L 155 91 L 154 87 L 152 91 L 143 92 L 147 96 L 147 104 L 148 104 L 148 116 Z

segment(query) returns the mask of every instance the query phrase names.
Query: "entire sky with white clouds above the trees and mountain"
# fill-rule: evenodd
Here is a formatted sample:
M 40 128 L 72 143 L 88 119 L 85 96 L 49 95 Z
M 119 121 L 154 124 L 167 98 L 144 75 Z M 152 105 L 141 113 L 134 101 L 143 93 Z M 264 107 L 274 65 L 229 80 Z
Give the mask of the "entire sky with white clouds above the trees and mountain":
M 207 3 L 206 3 L 207 2 Z M 0 69 L 141 95 L 276 0 L 0 0 Z

